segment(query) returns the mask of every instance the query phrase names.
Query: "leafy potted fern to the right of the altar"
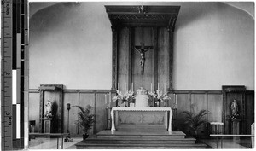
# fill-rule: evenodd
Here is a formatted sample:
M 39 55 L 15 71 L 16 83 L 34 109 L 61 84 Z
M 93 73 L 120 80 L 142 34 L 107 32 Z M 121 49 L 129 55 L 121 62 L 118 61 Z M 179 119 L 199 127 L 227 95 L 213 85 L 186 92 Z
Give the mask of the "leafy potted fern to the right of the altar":
M 191 136 L 198 137 L 198 131 L 207 124 L 207 120 L 204 118 L 207 113 L 207 110 L 201 110 L 199 113 L 183 111 L 184 131 Z

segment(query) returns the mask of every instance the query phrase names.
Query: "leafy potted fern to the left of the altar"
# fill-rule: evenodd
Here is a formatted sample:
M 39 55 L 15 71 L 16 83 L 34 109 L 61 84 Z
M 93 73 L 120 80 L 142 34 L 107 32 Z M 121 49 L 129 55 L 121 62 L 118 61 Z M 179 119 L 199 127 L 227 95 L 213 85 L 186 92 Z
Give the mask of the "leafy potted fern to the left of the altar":
M 85 108 L 81 106 L 74 106 L 79 108 L 79 119 L 75 122 L 76 125 L 82 128 L 84 131 L 83 140 L 85 140 L 89 134 L 87 133 L 88 130 L 91 129 L 92 125 L 95 122 L 95 114 L 90 113 L 92 107 L 87 105 Z

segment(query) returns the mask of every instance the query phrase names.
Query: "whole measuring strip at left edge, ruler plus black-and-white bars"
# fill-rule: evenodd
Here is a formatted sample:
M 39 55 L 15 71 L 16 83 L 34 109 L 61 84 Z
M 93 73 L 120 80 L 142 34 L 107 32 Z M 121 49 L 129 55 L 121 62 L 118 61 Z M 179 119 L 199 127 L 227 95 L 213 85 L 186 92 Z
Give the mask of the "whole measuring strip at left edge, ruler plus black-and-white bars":
M 27 5 L 27 0 L 2 0 L 1 5 L 2 150 L 28 148 Z

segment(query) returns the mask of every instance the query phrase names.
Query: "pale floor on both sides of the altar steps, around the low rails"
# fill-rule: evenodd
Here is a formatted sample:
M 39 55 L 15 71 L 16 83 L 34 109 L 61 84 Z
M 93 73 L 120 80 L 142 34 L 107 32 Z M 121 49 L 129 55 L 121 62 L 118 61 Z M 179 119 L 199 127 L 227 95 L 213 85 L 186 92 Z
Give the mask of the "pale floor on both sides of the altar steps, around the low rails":
M 63 142 L 64 149 L 75 149 L 75 144 L 82 140 L 81 137 L 73 137 L 73 142 Z M 216 140 L 203 139 L 201 142 L 206 143 L 210 148 L 217 148 Z M 59 142 L 61 148 L 61 139 Z M 218 141 L 218 148 L 220 148 L 220 141 Z M 224 139 L 223 148 L 251 148 L 251 139 Z M 57 149 L 57 138 L 36 138 L 29 142 L 29 149 Z

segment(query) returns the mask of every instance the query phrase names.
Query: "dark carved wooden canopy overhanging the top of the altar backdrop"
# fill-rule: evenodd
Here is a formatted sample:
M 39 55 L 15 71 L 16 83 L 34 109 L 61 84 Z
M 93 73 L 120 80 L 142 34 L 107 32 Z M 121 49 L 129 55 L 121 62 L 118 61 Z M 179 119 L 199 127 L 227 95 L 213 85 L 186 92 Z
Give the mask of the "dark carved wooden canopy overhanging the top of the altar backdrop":
M 113 27 L 166 26 L 173 30 L 180 6 L 105 6 Z

